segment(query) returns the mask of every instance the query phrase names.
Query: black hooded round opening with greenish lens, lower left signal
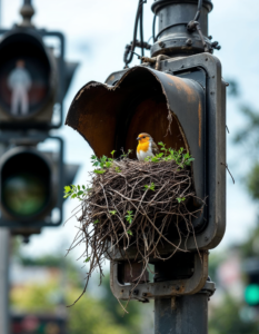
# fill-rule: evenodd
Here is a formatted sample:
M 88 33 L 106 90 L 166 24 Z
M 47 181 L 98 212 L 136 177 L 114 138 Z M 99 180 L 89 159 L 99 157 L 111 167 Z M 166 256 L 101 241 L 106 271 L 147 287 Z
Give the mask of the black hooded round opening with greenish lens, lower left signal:
M 13 154 L 1 170 L 1 206 L 13 219 L 32 219 L 49 207 L 51 173 L 43 156 Z

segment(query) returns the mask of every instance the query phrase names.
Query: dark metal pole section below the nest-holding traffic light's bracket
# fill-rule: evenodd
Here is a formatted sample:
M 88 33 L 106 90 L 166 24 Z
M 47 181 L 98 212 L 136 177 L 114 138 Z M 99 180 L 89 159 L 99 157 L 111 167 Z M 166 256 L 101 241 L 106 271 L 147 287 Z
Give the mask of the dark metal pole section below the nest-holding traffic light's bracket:
M 155 334 L 208 334 L 208 299 L 215 283 L 195 295 L 155 299 Z

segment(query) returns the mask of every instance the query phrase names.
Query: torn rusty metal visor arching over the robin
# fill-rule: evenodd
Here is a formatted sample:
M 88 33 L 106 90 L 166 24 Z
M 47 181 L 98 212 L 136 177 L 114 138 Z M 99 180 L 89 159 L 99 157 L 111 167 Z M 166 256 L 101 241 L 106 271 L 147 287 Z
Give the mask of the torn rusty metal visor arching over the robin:
M 73 99 L 66 124 L 83 136 L 97 156 L 121 147 L 135 150 L 136 135 L 143 131 L 168 147 L 185 147 L 196 158 L 196 191 L 205 198 L 203 105 L 203 90 L 196 81 L 135 67 L 112 87 L 86 85 Z M 166 136 L 168 112 L 172 124 Z

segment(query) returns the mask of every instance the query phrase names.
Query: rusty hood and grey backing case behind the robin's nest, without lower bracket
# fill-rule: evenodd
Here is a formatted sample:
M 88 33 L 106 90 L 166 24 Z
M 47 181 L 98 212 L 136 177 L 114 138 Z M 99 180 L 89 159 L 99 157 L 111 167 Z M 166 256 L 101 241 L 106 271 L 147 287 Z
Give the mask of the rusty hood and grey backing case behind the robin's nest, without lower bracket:
M 185 147 L 195 157 L 197 196 L 207 198 L 202 214 L 192 220 L 196 238 L 189 237 L 187 248 L 219 244 L 226 225 L 226 119 L 225 82 L 216 57 L 168 59 L 160 71 L 139 66 L 112 73 L 106 85 L 91 81 L 74 97 L 66 122 L 99 157 L 113 149 L 119 155 L 121 147 L 135 149 L 143 131 L 167 147 Z

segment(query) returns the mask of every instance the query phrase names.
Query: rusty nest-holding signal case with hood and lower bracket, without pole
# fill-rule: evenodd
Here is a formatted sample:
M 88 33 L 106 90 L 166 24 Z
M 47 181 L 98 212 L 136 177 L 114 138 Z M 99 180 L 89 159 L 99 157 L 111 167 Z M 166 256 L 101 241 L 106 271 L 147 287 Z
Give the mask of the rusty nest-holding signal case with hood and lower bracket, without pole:
M 205 52 L 186 58 L 169 58 L 159 61 L 157 68 L 159 70 L 150 66 L 137 66 L 111 73 L 106 85 L 94 81 L 87 84 L 74 97 L 66 121 L 83 136 L 97 156 L 109 156 L 112 149 L 119 151 L 121 147 L 127 151 L 132 148 L 133 140 L 141 131 L 152 134 L 156 141 L 168 140 L 170 145 L 170 136 L 163 137 L 167 127 L 159 120 L 159 115 L 152 118 L 152 112 L 161 111 L 159 104 L 156 105 L 158 107 L 148 104 L 146 108 L 138 99 L 139 96 L 143 100 L 148 99 L 150 95 L 156 99 L 158 94 L 173 115 L 173 129 L 177 131 L 180 128 L 175 137 L 183 140 L 178 145 L 185 145 L 195 157 L 193 185 L 197 196 L 206 202 L 206 206 L 202 215 L 192 219 L 196 235 L 189 236 L 180 245 L 196 254 L 192 268 L 195 274 L 188 279 L 167 281 L 166 285 L 158 282 L 140 284 L 138 289 L 147 298 L 195 294 L 199 291 L 208 277 L 207 252 L 220 243 L 226 229 L 226 82 L 221 79 L 220 61 Z M 151 92 L 147 95 L 149 89 Z M 142 106 L 147 112 L 137 114 L 139 109 L 136 106 Z M 143 119 L 147 121 L 148 118 L 150 125 L 145 127 Z M 94 130 L 91 129 L 93 122 Z M 159 127 L 163 126 L 165 132 L 160 132 L 163 138 L 158 137 L 158 124 Z M 172 236 L 170 240 L 179 245 L 178 237 Z M 202 258 L 199 258 L 197 249 Z M 175 250 L 170 245 L 159 248 L 165 256 Z M 113 247 L 109 253 L 112 258 L 111 288 L 118 298 L 129 297 L 135 286 L 132 283 L 119 282 L 118 264 L 126 258 L 136 259 L 136 254 L 133 246 L 127 250 Z M 173 286 L 178 286 L 178 291 Z M 131 298 L 140 297 L 133 294 Z

